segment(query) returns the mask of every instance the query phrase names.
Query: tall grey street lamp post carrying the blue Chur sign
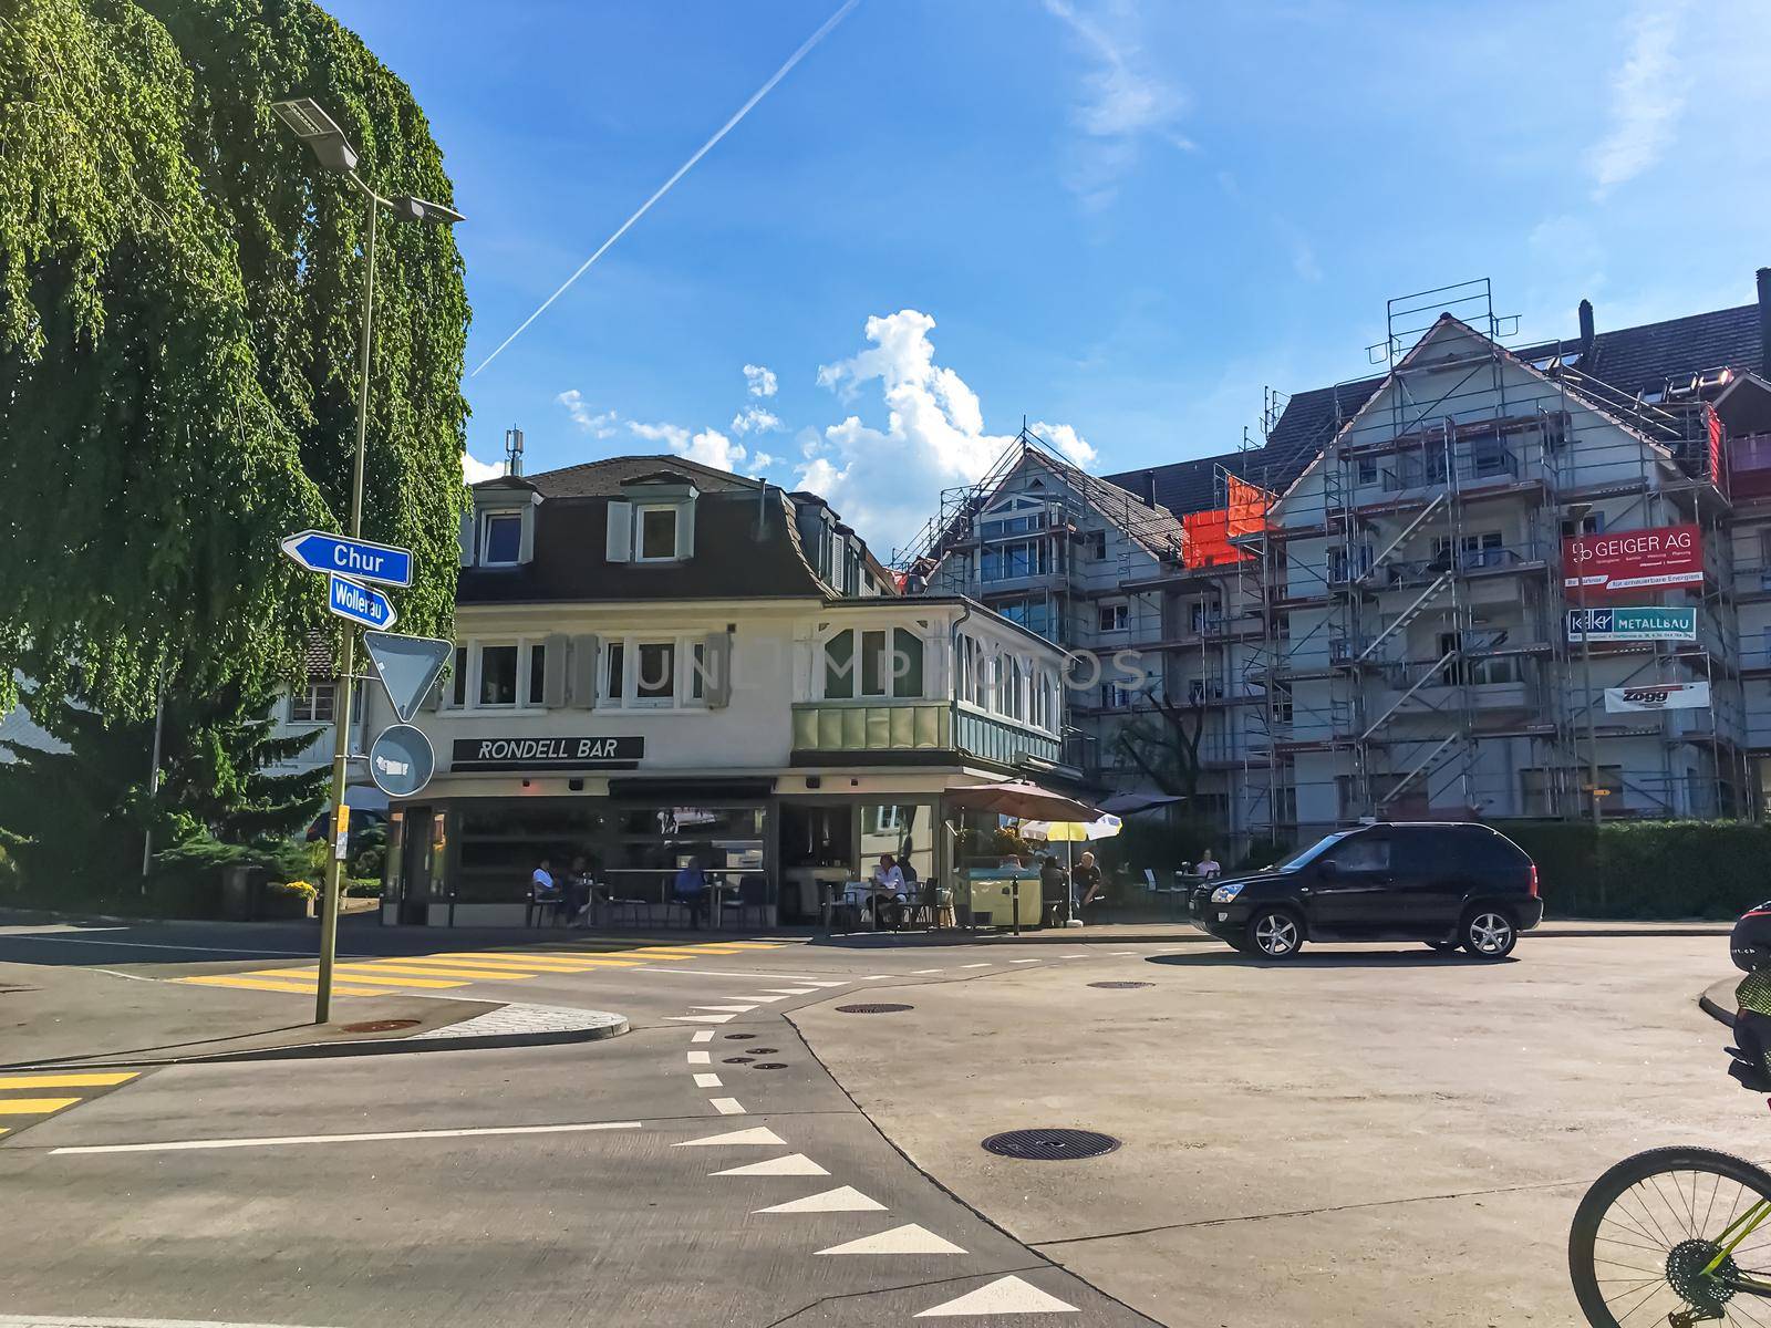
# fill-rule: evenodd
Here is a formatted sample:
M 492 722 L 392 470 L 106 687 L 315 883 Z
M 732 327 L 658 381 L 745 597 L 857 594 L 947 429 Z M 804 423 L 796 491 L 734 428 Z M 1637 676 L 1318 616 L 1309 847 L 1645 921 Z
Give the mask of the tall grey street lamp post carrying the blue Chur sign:
M 462 221 L 460 212 L 443 204 L 430 204 L 423 198 L 398 195 L 383 198 L 363 177 L 356 174 L 356 149 L 344 136 L 344 129 L 312 97 L 278 101 L 271 106 L 287 124 L 296 138 L 305 142 L 315 159 L 326 170 L 338 172 L 363 191 L 368 198 L 368 237 L 363 244 L 363 328 L 358 338 L 358 388 L 356 388 L 356 457 L 351 462 L 351 538 L 363 535 L 363 448 L 368 434 L 368 347 L 375 313 L 375 218 L 383 207 L 400 221 L 430 221 L 453 225 Z M 351 623 L 340 625 L 344 646 L 340 650 L 340 689 L 333 698 L 333 786 L 331 786 L 331 834 L 335 839 L 345 827 L 345 776 L 351 758 L 351 692 L 356 678 L 356 629 Z M 338 956 L 338 894 L 344 876 L 344 846 L 333 848 L 326 862 L 326 889 L 321 896 L 321 970 L 313 997 L 313 1022 L 326 1023 L 331 1018 L 331 979 L 333 963 Z

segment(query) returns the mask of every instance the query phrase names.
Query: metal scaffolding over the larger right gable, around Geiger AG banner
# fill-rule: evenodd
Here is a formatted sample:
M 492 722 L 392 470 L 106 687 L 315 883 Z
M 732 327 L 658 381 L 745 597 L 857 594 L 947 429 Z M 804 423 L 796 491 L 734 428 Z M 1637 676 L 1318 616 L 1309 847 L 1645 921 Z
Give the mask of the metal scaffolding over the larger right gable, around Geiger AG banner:
M 1424 352 L 1435 329 L 1452 351 Z M 1730 499 L 1714 409 L 1698 391 L 1622 397 L 1582 375 L 1578 345 L 1528 352 L 1535 374 L 1521 377 L 1502 345 L 1509 331 L 1516 320 L 1495 313 L 1486 280 L 1388 301 L 1385 340 L 1369 349 L 1387 367 L 1383 384 L 1353 413 L 1337 384 L 1312 446 L 1314 482 L 1275 524 L 1238 540 L 1249 554 L 1238 602 L 1264 629 L 1245 660 L 1259 696 L 1243 761 L 1252 832 L 1296 836 L 1296 767 L 1323 768 L 1323 754 L 1332 813 L 1318 790 L 1302 829 L 1493 807 L 1576 816 L 1594 797 L 1601 811 L 1672 816 L 1741 806 L 1744 696 L 1728 646 Z M 1270 432 L 1270 398 L 1264 407 Z M 1571 648 L 1564 524 L 1599 503 L 1610 528 L 1704 529 L 1711 574 L 1695 643 Z M 1422 622 L 1429 634 L 1410 632 Z M 1603 660 L 1612 685 L 1702 678 L 1713 705 L 1601 728 L 1603 687 L 1585 691 L 1576 660 Z M 1624 777 L 1605 751 L 1642 737 L 1659 738 L 1659 772 Z M 1511 760 L 1496 770 L 1500 742 Z M 1686 767 L 1693 747 L 1707 751 L 1707 770 Z M 1589 770 L 1622 788 L 1606 791 Z

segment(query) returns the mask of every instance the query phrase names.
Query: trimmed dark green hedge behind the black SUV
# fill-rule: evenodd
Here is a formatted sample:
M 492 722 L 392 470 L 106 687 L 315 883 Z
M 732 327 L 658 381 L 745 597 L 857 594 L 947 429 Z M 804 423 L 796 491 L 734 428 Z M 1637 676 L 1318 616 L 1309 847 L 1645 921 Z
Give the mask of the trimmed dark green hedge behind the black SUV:
M 1771 825 L 1502 822 L 1550 917 L 1739 917 L 1771 898 Z

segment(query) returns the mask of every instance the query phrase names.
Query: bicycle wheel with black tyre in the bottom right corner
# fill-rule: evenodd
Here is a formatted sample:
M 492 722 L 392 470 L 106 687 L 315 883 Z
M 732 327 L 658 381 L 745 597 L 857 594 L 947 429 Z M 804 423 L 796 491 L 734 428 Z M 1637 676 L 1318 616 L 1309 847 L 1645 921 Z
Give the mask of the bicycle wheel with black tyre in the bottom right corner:
M 1619 1162 L 1587 1190 L 1567 1232 L 1587 1323 L 1771 1328 L 1771 1300 L 1737 1284 L 1771 1282 L 1771 1218 L 1704 1273 L 1721 1234 L 1760 1199 L 1771 1201 L 1771 1174 L 1727 1153 L 1656 1147 Z

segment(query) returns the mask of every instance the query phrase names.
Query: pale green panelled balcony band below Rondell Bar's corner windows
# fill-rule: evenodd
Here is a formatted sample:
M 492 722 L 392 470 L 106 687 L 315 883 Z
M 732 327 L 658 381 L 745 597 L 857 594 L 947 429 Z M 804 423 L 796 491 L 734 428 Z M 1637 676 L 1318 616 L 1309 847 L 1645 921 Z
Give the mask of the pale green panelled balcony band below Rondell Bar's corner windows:
M 793 765 L 916 765 L 976 758 L 1061 761 L 1057 737 L 953 701 L 795 701 Z

